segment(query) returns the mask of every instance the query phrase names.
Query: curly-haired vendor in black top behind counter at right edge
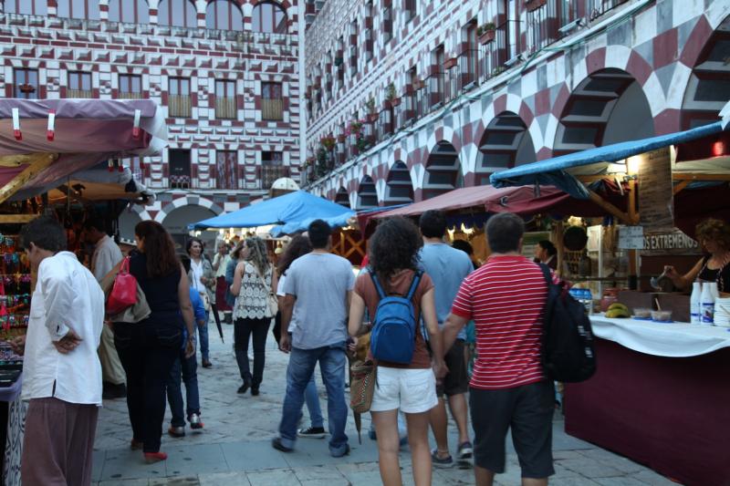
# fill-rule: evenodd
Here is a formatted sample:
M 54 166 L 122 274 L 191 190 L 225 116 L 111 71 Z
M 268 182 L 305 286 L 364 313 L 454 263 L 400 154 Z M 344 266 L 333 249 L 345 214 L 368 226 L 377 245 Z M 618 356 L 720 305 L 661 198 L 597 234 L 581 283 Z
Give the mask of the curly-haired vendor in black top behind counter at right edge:
M 687 274 L 677 273 L 672 265 L 664 267 L 664 274 L 680 289 L 688 289 L 696 280 L 716 282 L 720 295 L 730 295 L 730 225 L 722 220 L 708 218 L 697 224 L 694 235 L 709 254 Z

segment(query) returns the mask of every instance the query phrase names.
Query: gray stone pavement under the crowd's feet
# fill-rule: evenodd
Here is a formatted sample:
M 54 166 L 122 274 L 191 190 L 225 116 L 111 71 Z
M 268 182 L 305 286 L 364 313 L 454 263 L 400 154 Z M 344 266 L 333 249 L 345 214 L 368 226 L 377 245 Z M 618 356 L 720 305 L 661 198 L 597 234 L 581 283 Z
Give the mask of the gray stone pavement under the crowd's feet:
M 99 414 L 99 428 L 94 447 L 95 484 L 110 486 L 138 485 L 205 485 L 205 486 L 289 486 L 289 485 L 371 485 L 379 484 L 378 450 L 367 437 L 370 417 L 363 416 L 362 443 L 358 442 L 350 413 L 348 433 L 352 451 L 348 457 L 329 456 L 327 440 L 299 439 L 297 450 L 284 454 L 271 448 L 276 437 L 285 389 L 287 355 L 276 349 L 269 335 L 266 350 L 266 371 L 261 395 L 238 395 L 238 368 L 233 354 L 233 326 L 224 325 L 225 344 L 211 323 L 211 359 L 214 367 L 198 368 L 201 405 L 205 428 L 192 433 L 187 429 L 183 439 L 162 437 L 162 450 L 169 459 L 147 465 L 139 450 L 129 449 L 131 431 L 123 399 L 107 400 Z M 320 393 L 323 387 L 318 377 Z M 326 401 L 322 408 L 327 415 Z M 305 416 L 306 416 L 305 412 Z M 169 426 L 169 410 L 165 430 Z M 326 422 L 326 421 L 325 421 Z M 454 433 L 455 426 L 450 426 Z M 450 444 L 455 448 L 456 437 Z M 497 484 L 520 483 L 520 470 L 511 439 L 507 439 L 508 455 L 505 474 L 496 477 Z M 403 481 L 412 484 L 410 454 L 401 452 Z M 674 484 L 639 464 L 588 442 L 568 436 L 563 431 L 562 416 L 556 414 L 553 450 L 557 474 L 553 484 L 560 485 L 663 485 Z M 473 484 L 471 468 L 436 469 L 434 484 Z

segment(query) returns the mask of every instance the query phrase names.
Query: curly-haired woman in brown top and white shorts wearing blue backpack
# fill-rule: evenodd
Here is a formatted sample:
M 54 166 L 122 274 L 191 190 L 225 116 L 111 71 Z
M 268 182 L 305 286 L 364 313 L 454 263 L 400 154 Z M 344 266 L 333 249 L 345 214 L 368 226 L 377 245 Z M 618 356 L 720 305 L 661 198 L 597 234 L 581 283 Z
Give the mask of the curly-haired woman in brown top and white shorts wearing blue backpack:
M 358 277 L 349 310 L 349 336 L 356 344 L 355 336 L 359 334 L 365 308 L 370 315 L 376 315 L 380 300 L 372 274 L 381 282 L 386 295 L 407 295 L 418 269 L 418 251 L 421 246 L 421 234 L 410 220 L 394 217 L 378 225 L 369 242 L 369 271 Z M 429 410 L 438 402 L 436 377 L 443 377 L 446 370 L 443 366 L 443 345 L 436 319 L 433 283 L 428 274 L 422 275 L 412 303 L 415 322 L 419 323 L 422 317 L 428 330 L 434 363 L 432 369 L 431 357 L 420 329 L 416 329 L 410 364 L 378 362 L 378 386 L 375 387 L 370 412 L 378 438 L 381 480 L 385 485 L 402 483 L 398 459 L 399 408 L 405 413 L 408 424 L 415 484 L 431 484 Z

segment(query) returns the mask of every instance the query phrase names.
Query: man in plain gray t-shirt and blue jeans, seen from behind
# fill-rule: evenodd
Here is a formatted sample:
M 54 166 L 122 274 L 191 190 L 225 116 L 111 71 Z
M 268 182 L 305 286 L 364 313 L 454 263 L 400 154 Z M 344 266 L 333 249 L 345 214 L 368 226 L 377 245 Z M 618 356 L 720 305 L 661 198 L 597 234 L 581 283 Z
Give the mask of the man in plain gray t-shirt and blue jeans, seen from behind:
M 304 404 L 304 390 L 319 362 L 327 388 L 329 453 L 349 454 L 345 424 L 345 367 L 347 366 L 347 317 L 355 275 L 347 260 L 329 253 L 331 229 L 317 220 L 309 225 L 312 253 L 297 258 L 287 270 L 282 289 L 279 348 L 290 353 L 287 367 L 287 395 L 284 398 L 276 450 L 291 452 L 297 440 L 297 421 Z M 291 341 L 287 333 L 294 315 L 297 322 Z

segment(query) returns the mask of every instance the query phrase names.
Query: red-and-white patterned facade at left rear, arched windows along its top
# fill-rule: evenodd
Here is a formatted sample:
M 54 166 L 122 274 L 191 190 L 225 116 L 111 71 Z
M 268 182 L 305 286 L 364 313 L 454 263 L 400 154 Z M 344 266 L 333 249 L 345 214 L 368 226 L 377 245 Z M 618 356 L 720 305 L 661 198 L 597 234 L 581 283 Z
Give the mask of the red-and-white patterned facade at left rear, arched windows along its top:
M 297 0 L 2 0 L 0 96 L 151 98 L 170 146 L 124 160 L 157 193 L 120 218 L 190 222 L 298 178 Z M 301 5 L 303 8 L 304 5 Z

